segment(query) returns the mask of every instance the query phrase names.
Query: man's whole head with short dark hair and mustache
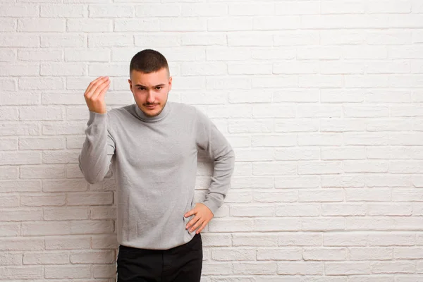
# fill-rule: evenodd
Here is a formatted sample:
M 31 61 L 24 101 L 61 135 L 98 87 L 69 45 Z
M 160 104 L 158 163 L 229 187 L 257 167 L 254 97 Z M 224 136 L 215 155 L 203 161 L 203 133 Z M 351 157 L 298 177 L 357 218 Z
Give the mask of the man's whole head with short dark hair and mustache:
M 128 82 L 137 106 L 146 116 L 161 113 L 172 88 L 168 63 L 162 54 L 151 49 L 135 54 Z

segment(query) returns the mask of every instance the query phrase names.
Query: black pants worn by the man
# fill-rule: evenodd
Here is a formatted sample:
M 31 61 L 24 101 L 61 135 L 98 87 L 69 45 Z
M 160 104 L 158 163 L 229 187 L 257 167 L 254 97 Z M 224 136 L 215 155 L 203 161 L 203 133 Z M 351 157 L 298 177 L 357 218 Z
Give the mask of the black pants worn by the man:
M 168 250 L 119 246 L 117 282 L 200 282 L 201 233 Z

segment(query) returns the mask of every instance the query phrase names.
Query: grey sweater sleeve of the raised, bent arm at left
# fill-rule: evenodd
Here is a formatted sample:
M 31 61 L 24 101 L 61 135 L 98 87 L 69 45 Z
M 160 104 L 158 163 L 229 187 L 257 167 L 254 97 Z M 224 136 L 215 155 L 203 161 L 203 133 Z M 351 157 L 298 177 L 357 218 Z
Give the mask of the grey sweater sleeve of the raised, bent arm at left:
M 115 142 L 107 129 L 109 114 L 90 111 L 85 130 L 85 142 L 78 158 L 79 167 L 88 183 L 103 180 L 109 171 L 111 158 L 115 152 Z

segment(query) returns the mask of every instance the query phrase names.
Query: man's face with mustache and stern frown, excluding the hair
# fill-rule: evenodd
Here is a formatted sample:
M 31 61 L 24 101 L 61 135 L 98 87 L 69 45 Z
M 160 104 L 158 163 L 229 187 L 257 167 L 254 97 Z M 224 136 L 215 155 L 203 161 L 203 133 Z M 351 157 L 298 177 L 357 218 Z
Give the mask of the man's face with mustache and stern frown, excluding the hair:
M 166 68 L 155 73 L 132 71 L 128 82 L 137 106 L 146 116 L 161 113 L 172 88 L 172 78 Z

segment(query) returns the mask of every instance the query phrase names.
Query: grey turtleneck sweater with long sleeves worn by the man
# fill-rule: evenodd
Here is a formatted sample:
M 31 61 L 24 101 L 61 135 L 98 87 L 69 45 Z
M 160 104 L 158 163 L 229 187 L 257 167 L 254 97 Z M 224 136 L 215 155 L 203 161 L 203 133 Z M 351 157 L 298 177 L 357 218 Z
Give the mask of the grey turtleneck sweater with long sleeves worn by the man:
M 214 123 L 194 106 L 167 102 L 148 117 L 137 104 L 106 114 L 90 111 L 79 166 L 89 183 L 109 171 L 116 182 L 118 243 L 167 250 L 195 235 L 185 229 L 195 206 L 197 149 L 214 160 L 202 201 L 215 213 L 230 188 L 234 153 Z

